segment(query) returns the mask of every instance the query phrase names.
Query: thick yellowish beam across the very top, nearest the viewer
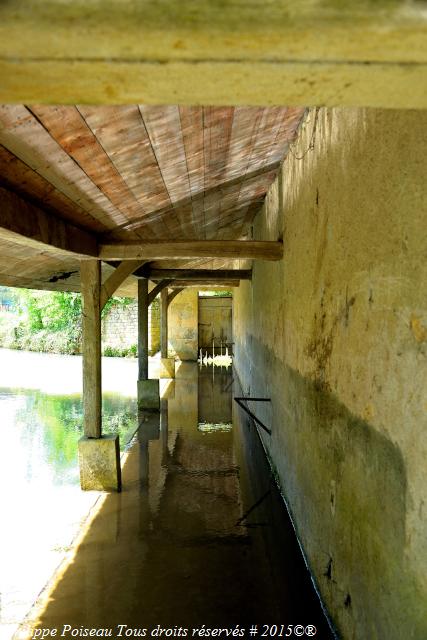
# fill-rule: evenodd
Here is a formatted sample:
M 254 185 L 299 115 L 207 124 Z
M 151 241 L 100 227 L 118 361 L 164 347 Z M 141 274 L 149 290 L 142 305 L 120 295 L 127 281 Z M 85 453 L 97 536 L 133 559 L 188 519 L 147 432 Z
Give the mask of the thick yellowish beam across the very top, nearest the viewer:
M 0 3 L 5 103 L 426 108 L 426 62 L 422 2 Z

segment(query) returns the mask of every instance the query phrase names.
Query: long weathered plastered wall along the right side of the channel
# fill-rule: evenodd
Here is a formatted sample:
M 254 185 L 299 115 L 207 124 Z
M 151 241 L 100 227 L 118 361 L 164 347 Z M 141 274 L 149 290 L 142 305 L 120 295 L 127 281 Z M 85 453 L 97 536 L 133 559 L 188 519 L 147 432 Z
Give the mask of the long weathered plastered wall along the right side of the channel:
M 234 294 L 238 374 L 272 399 L 263 439 L 349 639 L 427 637 L 426 132 L 312 110 L 254 224 L 285 257 Z

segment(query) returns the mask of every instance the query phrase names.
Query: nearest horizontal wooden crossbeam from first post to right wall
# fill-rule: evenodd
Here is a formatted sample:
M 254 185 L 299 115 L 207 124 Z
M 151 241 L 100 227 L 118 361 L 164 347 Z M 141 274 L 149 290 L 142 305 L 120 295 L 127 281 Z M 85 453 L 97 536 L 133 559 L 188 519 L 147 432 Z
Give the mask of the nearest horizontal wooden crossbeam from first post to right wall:
M 249 258 L 280 260 L 283 243 L 271 240 L 152 240 L 99 246 L 101 260 L 163 260 L 166 258 Z

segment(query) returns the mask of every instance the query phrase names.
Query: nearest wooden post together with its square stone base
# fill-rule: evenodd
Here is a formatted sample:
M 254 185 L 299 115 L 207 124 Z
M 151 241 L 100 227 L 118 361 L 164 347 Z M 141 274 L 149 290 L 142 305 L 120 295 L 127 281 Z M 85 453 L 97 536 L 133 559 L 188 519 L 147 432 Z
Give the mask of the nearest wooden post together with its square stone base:
M 101 393 L 101 263 L 80 265 L 83 314 L 83 425 L 79 440 L 82 489 L 120 491 L 119 437 L 102 435 Z

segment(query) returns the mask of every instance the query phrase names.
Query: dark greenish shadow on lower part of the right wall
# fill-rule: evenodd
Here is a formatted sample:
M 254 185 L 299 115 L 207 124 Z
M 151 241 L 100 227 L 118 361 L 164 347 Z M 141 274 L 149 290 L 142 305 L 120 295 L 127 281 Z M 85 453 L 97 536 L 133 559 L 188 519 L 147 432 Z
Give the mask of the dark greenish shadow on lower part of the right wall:
M 407 480 L 400 449 L 319 382 L 284 367 L 255 339 L 252 344 L 257 360 L 281 379 L 287 411 L 279 414 L 273 402 L 272 439 L 263 439 L 280 459 L 274 473 L 285 479 L 298 536 L 335 623 L 386 638 L 388 611 L 400 608 L 411 620 L 411 637 L 426 637 L 425 616 L 414 607 L 417 587 L 405 569 Z

